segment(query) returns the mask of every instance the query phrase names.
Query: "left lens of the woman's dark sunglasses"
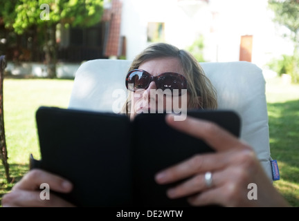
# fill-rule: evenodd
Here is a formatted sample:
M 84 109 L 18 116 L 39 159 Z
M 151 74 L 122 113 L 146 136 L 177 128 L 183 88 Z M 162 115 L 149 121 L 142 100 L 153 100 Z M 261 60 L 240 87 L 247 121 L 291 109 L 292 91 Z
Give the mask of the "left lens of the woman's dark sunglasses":
M 129 84 L 133 84 L 134 91 L 144 89 L 149 84 L 149 79 L 150 76 L 147 73 L 138 70 L 133 71 L 127 77 L 127 87 L 132 90 L 132 87 L 130 87 Z

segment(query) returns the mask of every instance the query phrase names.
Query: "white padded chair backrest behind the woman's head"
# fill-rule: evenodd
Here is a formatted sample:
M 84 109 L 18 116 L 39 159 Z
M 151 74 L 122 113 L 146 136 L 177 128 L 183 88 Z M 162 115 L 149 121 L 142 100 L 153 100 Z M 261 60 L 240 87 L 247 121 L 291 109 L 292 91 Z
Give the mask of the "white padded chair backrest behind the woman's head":
M 132 61 L 95 59 L 75 73 L 69 108 L 115 111 Z M 200 63 L 217 90 L 219 109 L 230 109 L 242 120 L 241 139 L 253 146 L 272 179 L 265 80 L 262 69 L 247 61 Z M 118 108 L 121 105 L 118 104 Z

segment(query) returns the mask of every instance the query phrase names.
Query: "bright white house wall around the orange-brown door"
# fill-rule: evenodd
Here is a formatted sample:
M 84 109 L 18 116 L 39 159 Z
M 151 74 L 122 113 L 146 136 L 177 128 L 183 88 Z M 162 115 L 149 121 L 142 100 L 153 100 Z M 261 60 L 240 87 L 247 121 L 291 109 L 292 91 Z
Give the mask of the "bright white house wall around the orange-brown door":
M 293 45 L 281 37 L 267 0 L 210 0 L 210 10 L 219 12 L 217 37 L 210 42 L 219 46 L 217 61 L 239 60 L 242 35 L 253 35 L 252 62 L 261 68 L 271 57 L 291 53 Z

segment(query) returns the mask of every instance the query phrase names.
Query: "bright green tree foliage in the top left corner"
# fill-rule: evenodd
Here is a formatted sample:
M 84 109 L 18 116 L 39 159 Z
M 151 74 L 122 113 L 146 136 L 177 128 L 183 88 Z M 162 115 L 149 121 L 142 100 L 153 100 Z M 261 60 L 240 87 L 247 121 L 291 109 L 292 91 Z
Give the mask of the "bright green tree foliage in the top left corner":
M 4 1 L 4 0 L 2 0 Z M 49 6 L 49 19 L 42 19 Z M 6 28 L 14 28 L 18 34 L 30 26 L 52 26 L 57 23 L 69 26 L 92 26 L 102 17 L 103 0 L 12 0 L 1 3 L 0 12 Z

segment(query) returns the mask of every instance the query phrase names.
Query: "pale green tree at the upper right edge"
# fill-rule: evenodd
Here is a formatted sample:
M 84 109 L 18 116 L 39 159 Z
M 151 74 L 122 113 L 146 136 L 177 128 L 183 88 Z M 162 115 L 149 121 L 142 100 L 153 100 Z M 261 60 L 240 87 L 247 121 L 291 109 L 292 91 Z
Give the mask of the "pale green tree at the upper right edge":
M 273 21 L 286 27 L 289 33 L 284 33 L 285 37 L 288 37 L 293 41 L 293 82 L 299 81 L 299 0 L 269 0 L 269 8 L 274 12 Z

